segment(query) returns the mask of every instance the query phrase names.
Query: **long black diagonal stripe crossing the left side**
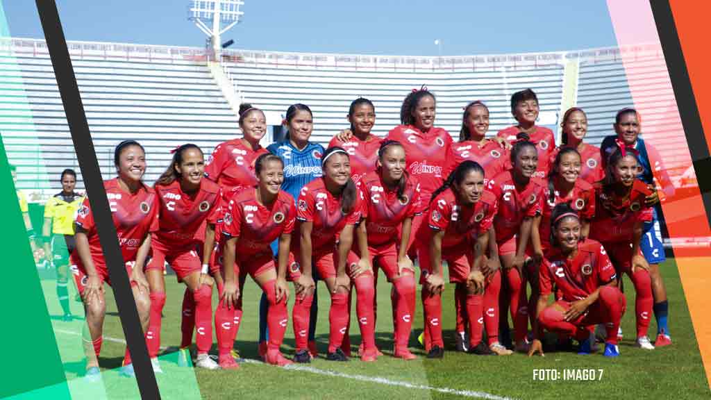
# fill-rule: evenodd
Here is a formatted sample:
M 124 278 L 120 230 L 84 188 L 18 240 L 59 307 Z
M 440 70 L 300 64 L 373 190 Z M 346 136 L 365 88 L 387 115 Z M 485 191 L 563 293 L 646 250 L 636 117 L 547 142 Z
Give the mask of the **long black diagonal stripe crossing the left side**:
M 131 352 L 139 390 L 143 399 L 160 399 L 158 384 L 148 357 L 138 310 L 126 274 L 124 258 L 119 248 L 116 228 L 109 210 L 104 183 L 99 170 L 99 162 L 94 151 L 89 125 L 84 113 L 84 105 L 79 95 L 77 80 L 69 57 L 67 42 L 59 20 L 54 0 L 36 0 L 50 58 L 54 68 L 59 93 L 62 97 L 67 124 L 74 142 L 79 167 L 89 195 L 97 233 L 109 269 L 109 278 L 116 298 L 116 305 L 124 329 L 126 342 Z

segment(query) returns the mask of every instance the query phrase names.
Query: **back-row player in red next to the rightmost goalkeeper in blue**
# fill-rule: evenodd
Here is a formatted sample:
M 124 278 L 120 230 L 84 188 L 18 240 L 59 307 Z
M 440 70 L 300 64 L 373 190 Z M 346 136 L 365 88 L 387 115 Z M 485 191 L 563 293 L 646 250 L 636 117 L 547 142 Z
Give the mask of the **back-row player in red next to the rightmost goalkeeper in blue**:
M 580 179 L 587 181 L 589 184 L 594 184 L 602 179 L 605 176 L 605 171 L 602 167 L 599 147 L 583 142 L 587 134 L 587 116 L 585 112 L 578 107 L 569 108 L 563 114 L 560 127 L 563 130 L 562 144 L 552 152 L 551 164 L 560 149 L 572 147 L 577 150 L 582 160 Z M 551 169 L 553 168 L 552 165 L 550 167 Z

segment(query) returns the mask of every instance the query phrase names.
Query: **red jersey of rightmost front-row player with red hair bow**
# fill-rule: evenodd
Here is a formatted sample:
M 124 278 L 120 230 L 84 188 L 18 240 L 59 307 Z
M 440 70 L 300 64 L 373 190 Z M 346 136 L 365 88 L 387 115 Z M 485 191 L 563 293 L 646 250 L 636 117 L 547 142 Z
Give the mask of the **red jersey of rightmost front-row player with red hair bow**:
M 590 238 L 602 243 L 631 243 L 638 221 L 652 221 L 653 208 L 644 203 L 651 194 L 647 185 L 634 180 L 627 199 L 619 199 L 602 184 L 595 184 L 595 217 L 590 223 Z

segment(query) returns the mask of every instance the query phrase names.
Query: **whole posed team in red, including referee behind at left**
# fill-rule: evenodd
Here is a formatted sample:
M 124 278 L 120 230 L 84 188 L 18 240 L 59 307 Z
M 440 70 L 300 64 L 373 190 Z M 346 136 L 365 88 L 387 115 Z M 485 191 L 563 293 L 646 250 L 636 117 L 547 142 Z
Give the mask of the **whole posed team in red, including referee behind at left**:
M 634 312 L 636 332 L 624 337 L 636 346 L 672 343 L 658 204 L 674 188 L 640 137 L 636 110 L 610 115 L 610 135 L 597 147 L 585 141 L 587 117 L 577 107 L 560 117 L 556 143 L 536 125 L 530 89 L 511 96 L 516 124 L 499 132 L 488 131 L 482 101 L 462 105 L 459 135 L 437 127 L 436 97 L 424 87 L 405 96 L 401 125 L 385 137 L 371 133 L 373 102 L 347 107 L 350 127 L 328 148 L 310 141 L 319 122 L 304 104 L 286 110 L 284 140 L 264 148 L 264 112 L 242 104 L 242 137 L 211 154 L 176 143 L 156 182 L 142 179 L 151 160 L 139 142 L 115 147 L 117 176 L 104 185 L 154 371 L 166 302 L 182 302 L 181 364 L 193 364 L 194 336 L 194 364 L 205 369 L 240 367 L 233 347 L 243 312 L 259 313 L 259 354 L 278 366 L 309 363 L 319 352 L 375 362 L 383 357 L 376 317 L 392 317 L 385 357 L 442 358 L 443 307 L 456 310 L 456 350 L 477 355 L 542 355 L 545 344 L 546 352 L 624 356 L 625 312 Z M 86 312 L 86 375 L 98 379 L 109 274 L 89 201 L 74 193 L 76 174 L 68 169 L 61 179 L 55 197 L 71 197 L 75 218 L 63 232 L 70 257 L 59 297 L 73 277 Z M 166 264 L 185 285 L 183 298 L 166 299 Z M 380 271 L 392 285 L 392 315 L 376 307 Z M 247 275 L 262 290 L 258 310 L 242 307 Z M 319 283 L 331 297 L 328 312 L 317 307 Z M 454 304 L 442 304 L 446 285 Z M 413 327 L 418 307 L 424 326 Z M 316 320 L 326 317 L 328 347 L 319 348 Z M 293 354 L 281 350 L 289 325 Z M 217 358 L 208 354 L 213 330 Z M 417 342 L 422 356 L 413 353 Z M 122 365 L 134 375 L 128 349 Z

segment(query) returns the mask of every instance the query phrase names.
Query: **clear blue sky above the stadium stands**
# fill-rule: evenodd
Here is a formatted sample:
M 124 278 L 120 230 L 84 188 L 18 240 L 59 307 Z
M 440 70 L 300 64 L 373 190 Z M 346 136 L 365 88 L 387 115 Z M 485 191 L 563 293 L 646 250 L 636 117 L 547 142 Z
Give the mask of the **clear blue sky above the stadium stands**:
M 12 36 L 43 38 L 35 2 L 4 0 Z M 57 0 L 68 40 L 203 46 L 188 0 Z M 233 48 L 442 55 L 615 46 L 604 0 L 245 0 Z

